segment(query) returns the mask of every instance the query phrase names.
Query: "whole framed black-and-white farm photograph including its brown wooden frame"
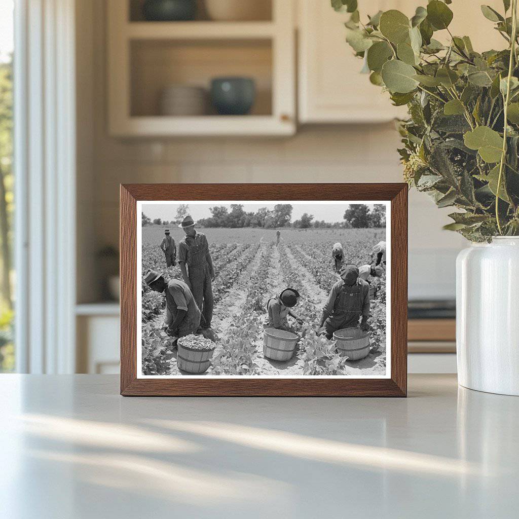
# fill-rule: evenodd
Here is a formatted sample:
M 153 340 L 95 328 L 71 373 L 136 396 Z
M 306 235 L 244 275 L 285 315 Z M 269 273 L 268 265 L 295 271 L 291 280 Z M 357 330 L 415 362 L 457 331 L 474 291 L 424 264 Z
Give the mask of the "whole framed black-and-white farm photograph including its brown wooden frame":
M 120 195 L 122 395 L 406 395 L 406 184 Z

